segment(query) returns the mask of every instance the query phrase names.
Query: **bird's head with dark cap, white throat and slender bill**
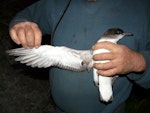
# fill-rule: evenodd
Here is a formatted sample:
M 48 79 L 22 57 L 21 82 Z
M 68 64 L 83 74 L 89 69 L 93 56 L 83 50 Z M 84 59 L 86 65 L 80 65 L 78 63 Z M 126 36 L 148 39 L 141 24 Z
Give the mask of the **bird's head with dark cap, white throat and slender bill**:
M 108 29 L 103 34 L 103 36 L 100 38 L 100 40 L 98 42 L 110 41 L 110 42 L 116 43 L 117 41 L 119 41 L 124 36 L 133 36 L 133 33 L 124 32 L 120 28 L 111 28 L 111 29 Z

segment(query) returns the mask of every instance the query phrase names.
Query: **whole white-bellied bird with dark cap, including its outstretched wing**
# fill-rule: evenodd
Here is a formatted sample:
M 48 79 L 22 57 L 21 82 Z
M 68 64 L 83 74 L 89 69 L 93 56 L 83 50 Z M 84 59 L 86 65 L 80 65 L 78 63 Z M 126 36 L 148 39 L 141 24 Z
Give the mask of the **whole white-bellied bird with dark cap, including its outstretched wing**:
M 109 41 L 117 43 L 124 36 L 132 33 L 124 33 L 120 28 L 108 29 L 98 40 L 98 42 Z M 27 66 L 47 68 L 56 66 L 72 71 L 89 71 L 93 68 L 93 63 L 106 63 L 109 60 L 94 61 L 93 55 L 109 52 L 106 49 L 98 50 L 75 50 L 65 46 L 41 45 L 39 48 L 17 48 L 8 50 L 9 55 L 17 56 L 15 61 L 19 61 Z M 93 68 L 94 83 L 99 87 L 100 99 L 104 102 L 112 101 L 112 84 L 117 77 L 105 77 L 97 74 L 97 69 Z

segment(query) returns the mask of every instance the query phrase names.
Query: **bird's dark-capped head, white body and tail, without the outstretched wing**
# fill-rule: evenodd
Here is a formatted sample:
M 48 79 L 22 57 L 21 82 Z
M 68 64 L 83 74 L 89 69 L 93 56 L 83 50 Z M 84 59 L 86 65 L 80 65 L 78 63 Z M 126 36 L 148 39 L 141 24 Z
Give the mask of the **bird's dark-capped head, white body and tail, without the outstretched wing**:
M 108 41 L 117 44 L 117 42 L 124 36 L 133 36 L 133 33 L 124 32 L 120 28 L 111 28 L 108 29 L 97 42 Z M 108 52 L 110 51 L 104 48 L 97 49 L 93 51 L 93 55 Z M 109 60 L 93 61 L 93 63 L 106 63 L 106 62 L 110 61 Z M 98 75 L 97 69 L 93 68 L 93 77 L 95 85 L 99 87 L 101 101 L 103 102 L 112 101 L 113 100 L 112 85 L 118 76 L 115 75 L 113 77 L 107 77 L 103 75 Z

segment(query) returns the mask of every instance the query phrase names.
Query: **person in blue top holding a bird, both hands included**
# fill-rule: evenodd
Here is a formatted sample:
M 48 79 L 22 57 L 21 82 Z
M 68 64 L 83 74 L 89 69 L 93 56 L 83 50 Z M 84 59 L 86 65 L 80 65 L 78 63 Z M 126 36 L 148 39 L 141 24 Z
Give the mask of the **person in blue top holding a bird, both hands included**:
M 150 88 L 149 9 L 149 0 L 40 0 L 12 19 L 9 33 L 25 49 L 40 48 L 42 36 L 51 34 L 54 46 L 108 50 L 92 59 L 109 60 L 93 64 L 98 75 L 118 75 L 113 83 L 113 100 L 100 101 L 92 70 L 74 72 L 53 67 L 49 79 L 56 113 L 124 113 L 133 82 Z M 118 44 L 97 42 L 107 29 L 114 27 L 134 36 L 126 36 Z

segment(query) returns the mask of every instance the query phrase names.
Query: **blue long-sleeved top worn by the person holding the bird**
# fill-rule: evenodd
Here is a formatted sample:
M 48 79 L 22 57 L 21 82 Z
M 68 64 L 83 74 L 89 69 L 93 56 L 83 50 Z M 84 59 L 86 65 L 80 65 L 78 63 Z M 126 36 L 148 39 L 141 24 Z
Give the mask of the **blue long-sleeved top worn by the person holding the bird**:
M 41 0 L 18 13 L 10 27 L 17 21 L 32 21 L 39 25 L 43 34 L 51 34 L 66 4 L 67 0 Z M 91 49 L 108 28 L 114 27 L 134 34 L 134 37 L 121 39 L 119 44 L 144 56 L 145 72 L 120 76 L 113 85 L 113 101 L 106 104 L 99 99 L 92 71 L 72 72 L 53 67 L 50 70 L 52 96 L 56 105 L 66 113 L 113 113 L 128 98 L 133 82 L 144 88 L 150 87 L 149 0 L 71 0 L 52 44 Z

